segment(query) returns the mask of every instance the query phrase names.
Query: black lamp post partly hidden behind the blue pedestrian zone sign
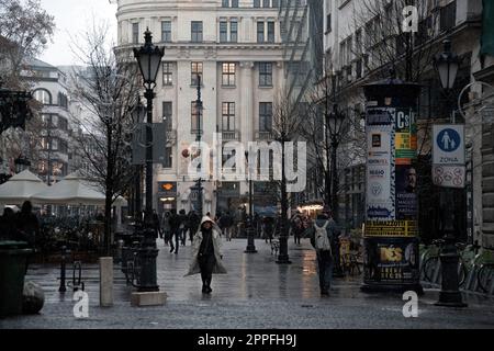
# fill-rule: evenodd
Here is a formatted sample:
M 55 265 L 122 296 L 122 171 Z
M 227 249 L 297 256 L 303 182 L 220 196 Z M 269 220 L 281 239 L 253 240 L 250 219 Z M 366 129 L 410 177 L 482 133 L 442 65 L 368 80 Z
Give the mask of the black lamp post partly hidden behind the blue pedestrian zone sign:
M 439 73 L 441 87 L 445 90 L 445 94 L 449 102 L 458 73 L 459 59 L 454 53 L 451 53 L 451 42 L 449 39 L 445 41 L 444 45 L 444 53 L 440 53 L 435 57 L 434 64 Z M 452 105 L 452 101 L 451 103 L 448 103 L 448 106 Z M 450 107 L 449 113 L 452 114 L 452 107 Z M 451 189 L 447 189 L 446 194 L 441 192 L 441 231 L 445 238 L 445 246 L 440 252 L 442 270 L 441 291 L 439 293 L 439 302 L 437 302 L 436 305 L 448 307 L 467 307 L 467 304 L 463 303 L 459 288 L 458 264 L 460 256 L 458 253 L 457 246 L 454 245 L 457 239 L 456 229 L 453 226 L 454 211 L 452 208 L 454 200 Z

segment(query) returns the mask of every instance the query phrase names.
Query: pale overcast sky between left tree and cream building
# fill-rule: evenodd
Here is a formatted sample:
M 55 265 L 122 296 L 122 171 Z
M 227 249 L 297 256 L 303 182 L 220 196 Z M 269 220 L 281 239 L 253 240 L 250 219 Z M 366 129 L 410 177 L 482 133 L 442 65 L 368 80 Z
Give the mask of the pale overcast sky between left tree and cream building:
M 110 4 L 109 0 L 41 0 L 42 7 L 55 16 L 54 43 L 47 44 L 47 49 L 40 57 L 42 60 L 54 65 L 78 64 L 70 50 L 70 35 L 79 35 L 93 19 L 104 20 L 111 25 L 113 41 L 116 41 L 116 4 Z M 110 38 L 109 38 L 110 39 Z

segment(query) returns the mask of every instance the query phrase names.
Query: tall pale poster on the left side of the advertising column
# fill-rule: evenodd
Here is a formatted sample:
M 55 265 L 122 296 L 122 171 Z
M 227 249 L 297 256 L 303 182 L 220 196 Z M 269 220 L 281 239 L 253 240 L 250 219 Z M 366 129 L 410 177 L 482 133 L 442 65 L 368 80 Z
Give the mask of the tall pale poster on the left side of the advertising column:
M 367 218 L 390 220 L 394 218 L 392 193 L 392 126 L 367 128 Z

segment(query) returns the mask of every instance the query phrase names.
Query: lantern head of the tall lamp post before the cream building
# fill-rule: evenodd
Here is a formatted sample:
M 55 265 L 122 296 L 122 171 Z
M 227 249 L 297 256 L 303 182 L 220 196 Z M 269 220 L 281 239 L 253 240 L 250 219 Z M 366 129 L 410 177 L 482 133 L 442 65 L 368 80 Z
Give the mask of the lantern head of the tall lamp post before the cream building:
M 165 48 L 160 48 L 153 44 L 153 35 L 149 29 L 144 33 L 145 44 L 139 48 L 134 48 L 134 56 L 139 65 L 143 75 L 144 84 L 150 88 L 156 84 L 159 64 L 165 55 Z

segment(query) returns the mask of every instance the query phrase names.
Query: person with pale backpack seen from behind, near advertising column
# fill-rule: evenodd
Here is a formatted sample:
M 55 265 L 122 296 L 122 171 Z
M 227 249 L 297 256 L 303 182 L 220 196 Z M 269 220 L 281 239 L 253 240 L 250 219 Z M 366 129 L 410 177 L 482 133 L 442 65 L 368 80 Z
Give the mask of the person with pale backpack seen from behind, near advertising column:
M 316 250 L 317 272 L 319 275 L 321 295 L 328 296 L 332 286 L 334 257 L 332 252 L 333 236 L 335 234 L 335 220 L 327 214 L 317 216 L 313 226 L 307 228 L 305 236 Z

